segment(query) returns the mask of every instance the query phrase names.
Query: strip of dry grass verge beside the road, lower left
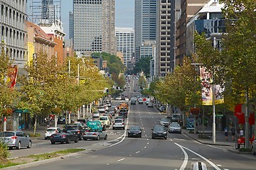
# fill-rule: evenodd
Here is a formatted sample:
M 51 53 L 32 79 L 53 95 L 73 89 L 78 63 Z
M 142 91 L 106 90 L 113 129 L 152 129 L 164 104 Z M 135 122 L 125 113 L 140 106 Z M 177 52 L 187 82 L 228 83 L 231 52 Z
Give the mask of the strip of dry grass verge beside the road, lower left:
M 46 154 L 32 154 L 32 155 L 25 156 L 25 157 L 18 157 L 16 159 L 9 159 L 9 160 L 0 159 L 0 169 L 6 168 L 9 166 L 16 166 L 19 164 L 27 164 L 27 163 L 31 163 L 31 162 L 42 161 L 45 159 L 61 157 L 66 154 L 72 154 L 72 153 L 80 152 L 83 150 L 85 150 L 85 149 L 65 149 L 65 150 L 61 150 L 61 151 L 57 151 L 57 152 L 50 152 L 50 153 L 46 153 Z

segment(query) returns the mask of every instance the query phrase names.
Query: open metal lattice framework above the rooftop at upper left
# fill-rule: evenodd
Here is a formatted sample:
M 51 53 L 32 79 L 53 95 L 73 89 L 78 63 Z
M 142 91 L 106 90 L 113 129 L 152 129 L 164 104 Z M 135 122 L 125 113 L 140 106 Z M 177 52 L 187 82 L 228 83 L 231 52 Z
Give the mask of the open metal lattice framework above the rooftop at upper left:
M 31 0 L 30 9 L 28 17 L 33 23 L 52 25 L 61 21 L 60 0 Z

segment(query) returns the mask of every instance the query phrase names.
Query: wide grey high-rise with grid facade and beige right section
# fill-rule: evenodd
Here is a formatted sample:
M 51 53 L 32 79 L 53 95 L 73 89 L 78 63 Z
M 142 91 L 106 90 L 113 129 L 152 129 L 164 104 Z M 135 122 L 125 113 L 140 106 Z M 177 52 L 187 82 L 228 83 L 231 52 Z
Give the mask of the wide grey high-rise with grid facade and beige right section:
M 73 22 L 75 51 L 116 53 L 114 0 L 73 0 Z

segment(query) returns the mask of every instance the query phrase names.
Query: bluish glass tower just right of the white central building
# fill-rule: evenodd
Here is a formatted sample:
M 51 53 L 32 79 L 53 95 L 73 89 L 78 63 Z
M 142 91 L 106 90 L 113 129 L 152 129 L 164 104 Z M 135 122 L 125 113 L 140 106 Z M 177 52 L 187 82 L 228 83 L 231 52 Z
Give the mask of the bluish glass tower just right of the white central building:
M 134 45 L 136 60 L 144 40 L 156 40 L 156 0 L 134 0 Z

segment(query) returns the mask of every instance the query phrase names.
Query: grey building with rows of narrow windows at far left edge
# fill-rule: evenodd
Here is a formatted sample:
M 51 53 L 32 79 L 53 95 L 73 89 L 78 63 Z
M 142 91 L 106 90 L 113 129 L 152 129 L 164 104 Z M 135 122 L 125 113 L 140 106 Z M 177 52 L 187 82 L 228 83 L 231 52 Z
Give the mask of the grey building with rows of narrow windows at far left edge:
M 28 62 L 26 43 L 27 3 L 25 0 L 16 1 L 16 3 L 9 0 L 0 0 L 0 6 L 0 47 L 4 46 L 6 54 L 9 55 L 14 64 L 22 68 Z

